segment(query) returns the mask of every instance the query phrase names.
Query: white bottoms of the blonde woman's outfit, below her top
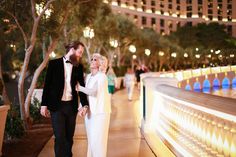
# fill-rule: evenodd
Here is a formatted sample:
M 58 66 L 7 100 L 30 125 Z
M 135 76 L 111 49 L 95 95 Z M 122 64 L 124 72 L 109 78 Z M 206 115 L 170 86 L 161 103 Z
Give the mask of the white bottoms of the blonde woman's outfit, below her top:
M 87 157 L 106 157 L 110 113 L 87 114 L 85 126 L 88 138 Z

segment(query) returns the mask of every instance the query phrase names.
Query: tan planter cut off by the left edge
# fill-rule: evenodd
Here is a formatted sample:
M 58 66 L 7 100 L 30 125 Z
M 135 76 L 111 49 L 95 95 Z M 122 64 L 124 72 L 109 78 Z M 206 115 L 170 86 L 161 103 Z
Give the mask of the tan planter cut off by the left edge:
M 9 109 L 9 105 L 0 106 L 0 156 L 2 156 L 2 142 L 7 118 L 7 111 Z

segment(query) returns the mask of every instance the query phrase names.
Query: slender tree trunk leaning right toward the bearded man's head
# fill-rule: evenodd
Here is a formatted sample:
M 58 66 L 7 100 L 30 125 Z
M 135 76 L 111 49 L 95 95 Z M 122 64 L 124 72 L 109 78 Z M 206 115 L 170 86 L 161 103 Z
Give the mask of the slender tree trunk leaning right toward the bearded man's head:
M 49 49 L 45 55 L 45 58 L 43 59 L 43 62 L 39 65 L 39 67 L 36 69 L 34 76 L 33 76 L 33 80 L 31 82 L 30 88 L 29 88 L 29 92 L 26 96 L 26 100 L 25 100 L 25 116 L 27 121 L 30 120 L 30 113 L 29 113 L 29 108 L 30 108 L 30 104 L 31 104 L 31 97 L 33 95 L 33 91 L 35 89 L 38 77 L 40 75 L 40 73 L 43 71 L 43 69 L 46 67 L 48 60 L 49 60 L 49 54 L 51 54 L 51 52 L 55 49 L 56 44 L 57 44 L 58 40 L 55 39 L 49 46 Z

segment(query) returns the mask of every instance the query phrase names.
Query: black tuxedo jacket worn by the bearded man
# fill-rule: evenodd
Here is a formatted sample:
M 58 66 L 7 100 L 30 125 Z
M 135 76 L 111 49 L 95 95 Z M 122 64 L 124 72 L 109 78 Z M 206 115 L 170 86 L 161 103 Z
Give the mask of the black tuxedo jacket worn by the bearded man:
M 75 90 L 77 81 L 81 86 L 84 86 L 83 66 L 81 64 L 73 66 L 71 74 L 72 101 L 75 112 L 78 110 L 78 93 Z M 60 102 L 63 95 L 64 83 L 63 58 L 49 61 L 41 106 L 47 106 L 50 111 L 56 111 L 61 104 Z M 89 105 L 86 94 L 79 92 L 79 97 L 82 106 Z

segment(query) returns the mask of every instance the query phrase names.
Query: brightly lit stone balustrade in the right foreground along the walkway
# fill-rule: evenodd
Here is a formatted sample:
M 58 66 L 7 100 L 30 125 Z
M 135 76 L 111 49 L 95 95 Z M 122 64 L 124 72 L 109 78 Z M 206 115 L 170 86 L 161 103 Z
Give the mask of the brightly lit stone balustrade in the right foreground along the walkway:
M 141 77 L 141 127 L 153 136 L 146 138 L 148 143 L 158 138 L 175 156 L 236 157 L 236 100 L 178 88 L 184 71 L 176 73 L 180 72 Z M 162 151 L 153 150 L 158 156 Z

